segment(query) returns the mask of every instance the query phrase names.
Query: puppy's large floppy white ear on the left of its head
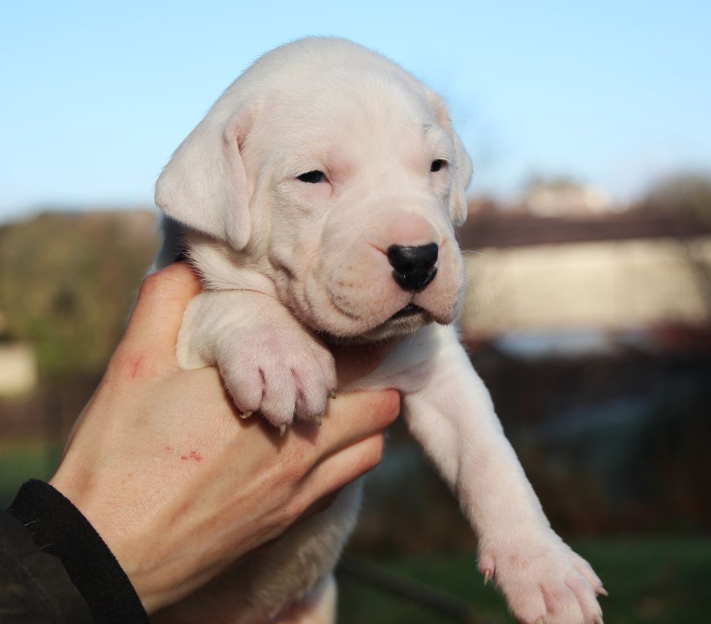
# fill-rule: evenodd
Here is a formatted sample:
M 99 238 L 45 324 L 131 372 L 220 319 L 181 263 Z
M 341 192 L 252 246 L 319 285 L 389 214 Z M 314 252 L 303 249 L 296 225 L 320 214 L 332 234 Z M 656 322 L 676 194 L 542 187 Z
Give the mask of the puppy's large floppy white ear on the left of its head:
M 252 230 L 240 146 L 252 125 L 244 108 L 226 122 L 208 113 L 156 182 L 156 205 L 172 219 L 243 249 Z

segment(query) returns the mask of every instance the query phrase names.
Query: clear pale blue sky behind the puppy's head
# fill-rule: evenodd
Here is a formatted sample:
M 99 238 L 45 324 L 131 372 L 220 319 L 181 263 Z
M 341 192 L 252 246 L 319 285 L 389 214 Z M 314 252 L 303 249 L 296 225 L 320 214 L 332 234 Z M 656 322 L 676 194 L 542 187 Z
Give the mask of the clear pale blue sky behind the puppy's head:
M 174 0 L 3 9 L 0 221 L 39 208 L 152 205 L 156 176 L 265 50 L 351 38 L 442 92 L 473 192 L 534 173 L 619 200 L 711 169 L 711 3 Z

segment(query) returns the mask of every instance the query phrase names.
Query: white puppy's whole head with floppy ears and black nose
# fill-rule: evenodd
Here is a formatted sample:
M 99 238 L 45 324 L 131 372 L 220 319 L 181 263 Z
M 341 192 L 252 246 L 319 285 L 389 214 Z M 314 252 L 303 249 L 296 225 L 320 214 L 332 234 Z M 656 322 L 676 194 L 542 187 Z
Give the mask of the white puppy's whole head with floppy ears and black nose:
M 439 96 L 359 45 L 310 38 L 225 91 L 156 203 L 310 328 L 378 340 L 456 317 L 470 177 Z

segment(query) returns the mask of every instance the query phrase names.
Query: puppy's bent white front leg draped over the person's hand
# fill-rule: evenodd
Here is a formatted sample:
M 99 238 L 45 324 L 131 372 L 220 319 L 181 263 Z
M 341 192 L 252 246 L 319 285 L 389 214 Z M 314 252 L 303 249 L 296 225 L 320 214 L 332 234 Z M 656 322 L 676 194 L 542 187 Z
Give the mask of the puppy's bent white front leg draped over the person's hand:
M 178 336 L 183 368 L 214 365 L 245 417 L 284 433 L 294 416 L 320 421 L 336 388 L 331 353 L 279 301 L 257 291 L 204 291 Z

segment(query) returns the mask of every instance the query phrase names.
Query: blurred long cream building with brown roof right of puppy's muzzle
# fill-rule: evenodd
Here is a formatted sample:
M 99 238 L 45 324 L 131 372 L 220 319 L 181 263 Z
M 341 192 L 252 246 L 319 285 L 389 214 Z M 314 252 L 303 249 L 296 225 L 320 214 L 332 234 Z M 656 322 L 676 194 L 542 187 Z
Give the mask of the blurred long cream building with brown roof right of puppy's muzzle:
M 462 330 L 582 335 L 711 321 L 711 231 L 634 214 L 488 216 L 460 232 Z

